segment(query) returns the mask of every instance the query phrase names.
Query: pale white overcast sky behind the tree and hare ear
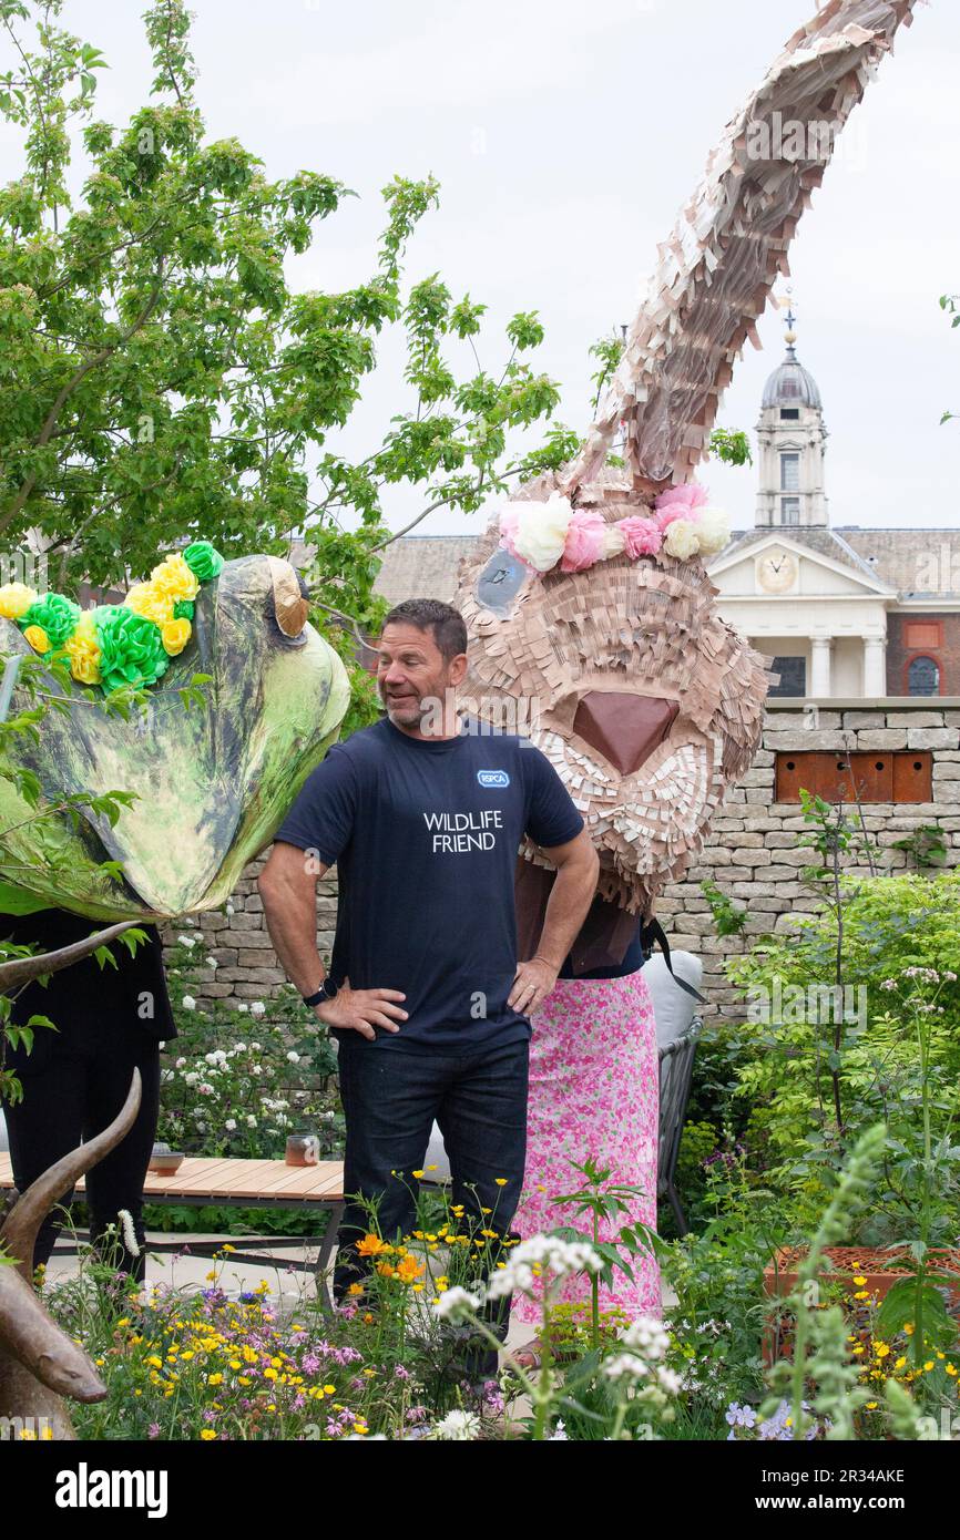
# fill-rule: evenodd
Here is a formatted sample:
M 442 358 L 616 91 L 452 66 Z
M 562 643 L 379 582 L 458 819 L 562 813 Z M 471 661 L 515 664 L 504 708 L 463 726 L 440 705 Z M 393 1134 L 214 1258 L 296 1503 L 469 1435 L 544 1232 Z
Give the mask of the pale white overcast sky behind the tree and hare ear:
M 145 99 L 145 0 L 65 0 L 63 22 L 100 46 L 97 116 Z M 199 103 L 210 136 L 236 136 L 268 176 L 328 172 L 359 199 L 319 226 L 296 286 L 342 288 L 373 271 L 378 189 L 433 172 L 410 277 L 441 271 L 490 305 L 481 359 L 505 359 L 502 323 L 538 310 L 539 367 L 564 385 L 561 417 L 587 427 L 587 346 L 630 319 L 638 279 L 697 185 L 724 122 L 814 0 L 194 0 Z M 798 356 L 831 430 L 835 525 L 960 524 L 960 336 L 937 303 L 960 291 L 960 5 L 934 0 L 868 88 L 794 242 Z M 0 43 L 0 69 L 6 49 Z M 0 129 L 0 179 L 20 168 Z M 720 422 L 754 428 L 781 320 L 760 325 Z M 402 393 L 387 339 L 362 414 L 342 437 L 368 453 Z M 464 365 L 467 360 L 464 360 Z M 755 471 L 701 479 L 735 527 L 754 522 Z M 416 494 L 390 504 L 394 527 Z M 418 533 L 481 527 L 433 514 Z

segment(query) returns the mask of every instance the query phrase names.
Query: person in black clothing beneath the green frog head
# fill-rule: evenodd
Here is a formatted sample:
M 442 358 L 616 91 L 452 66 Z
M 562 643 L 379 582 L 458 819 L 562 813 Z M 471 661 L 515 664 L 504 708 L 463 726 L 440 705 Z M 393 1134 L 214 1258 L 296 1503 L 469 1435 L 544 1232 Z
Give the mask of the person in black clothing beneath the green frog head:
M 32 915 L 0 915 L 0 936 L 37 950 L 83 941 L 103 922 L 43 909 Z M 11 1003 L 11 1023 L 26 1026 L 32 1015 L 48 1016 L 55 1032 L 37 1027 L 32 1052 L 6 1049 L 6 1067 L 23 1084 L 23 1100 L 5 1107 L 14 1181 L 20 1192 L 82 1140 L 100 1133 L 120 1112 L 134 1067 L 140 1070 L 140 1110 L 129 1133 L 86 1175 L 89 1232 L 102 1241 L 116 1226 L 120 1269 L 142 1280 L 143 1178 L 157 1130 L 160 1092 L 160 1043 L 177 1036 L 163 976 L 163 949 L 156 926 L 131 956 L 122 939 L 111 942 L 116 969 L 100 967 L 92 956 L 51 973 L 46 987 L 37 981 Z M 62 1203 L 69 1203 L 63 1194 Z M 129 1250 L 117 1218 L 125 1209 L 133 1220 L 139 1254 Z M 37 1235 L 34 1267 L 49 1261 L 60 1229 L 59 1210 Z M 117 1255 L 112 1250 L 111 1255 Z

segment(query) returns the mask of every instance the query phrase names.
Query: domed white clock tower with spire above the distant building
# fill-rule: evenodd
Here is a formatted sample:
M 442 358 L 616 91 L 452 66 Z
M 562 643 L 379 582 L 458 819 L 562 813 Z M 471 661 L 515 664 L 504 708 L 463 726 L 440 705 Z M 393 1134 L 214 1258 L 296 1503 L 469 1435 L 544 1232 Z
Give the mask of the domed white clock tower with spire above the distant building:
M 827 436 L 823 424 L 823 402 L 817 380 L 797 357 L 795 319 L 792 310 L 787 310 L 786 356 L 763 388 L 763 405 L 757 424 L 760 447 L 758 530 L 824 530 L 829 522 L 823 491 L 823 456 Z M 770 582 L 764 587 L 769 591 L 777 591 L 777 574 L 767 576 Z

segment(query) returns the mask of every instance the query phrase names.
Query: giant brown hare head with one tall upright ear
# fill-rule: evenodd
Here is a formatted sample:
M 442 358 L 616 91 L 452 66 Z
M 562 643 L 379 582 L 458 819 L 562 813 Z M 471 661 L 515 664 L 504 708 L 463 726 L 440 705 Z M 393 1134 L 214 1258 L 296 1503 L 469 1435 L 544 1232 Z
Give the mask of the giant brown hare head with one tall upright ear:
M 717 613 L 701 557 L 729 531 L 693 471 L 837 134 L 914 3 L 829 0 L 790 37 L 658 248 L 578 459 L 522 487 L 461 567 L 472 708 L 529 725 L 601 858 L 578 972 L 623 958 L 760 742 L 767 659 Z M 624 468 L 609 464 L 619 433 Z M 525 956 L 553 872 L 533 845 L 522 856 Z

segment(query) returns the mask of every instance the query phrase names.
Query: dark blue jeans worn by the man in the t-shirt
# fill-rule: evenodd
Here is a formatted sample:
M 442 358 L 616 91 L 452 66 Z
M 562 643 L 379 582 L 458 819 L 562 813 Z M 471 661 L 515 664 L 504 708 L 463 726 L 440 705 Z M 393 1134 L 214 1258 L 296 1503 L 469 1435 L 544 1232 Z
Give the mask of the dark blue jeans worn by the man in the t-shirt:
M 451 1203 L 465 1210 L 464 1229 L 510 1234 L 527 1158 L 529 1058 L 529 1041 L 468 1053 L 384 1049 L 359 1035 L 341 1041 L 348 1201 L 333 1274 L 337 1300 L 370 1267 L 356 1254 L 356 1243 L 370 1230 L 365 1203 L 378 1204 L 384 1240 L 410 1234 L 419 1190 L 411 1173 L 422 1169 L 435 1120 L 450 1158 Z M 509 1318 L 509 1300 L 488 1312 L 501 1340 Z M 482 1355 L 479 1371 L 496 1372 L 496 1354 Z

